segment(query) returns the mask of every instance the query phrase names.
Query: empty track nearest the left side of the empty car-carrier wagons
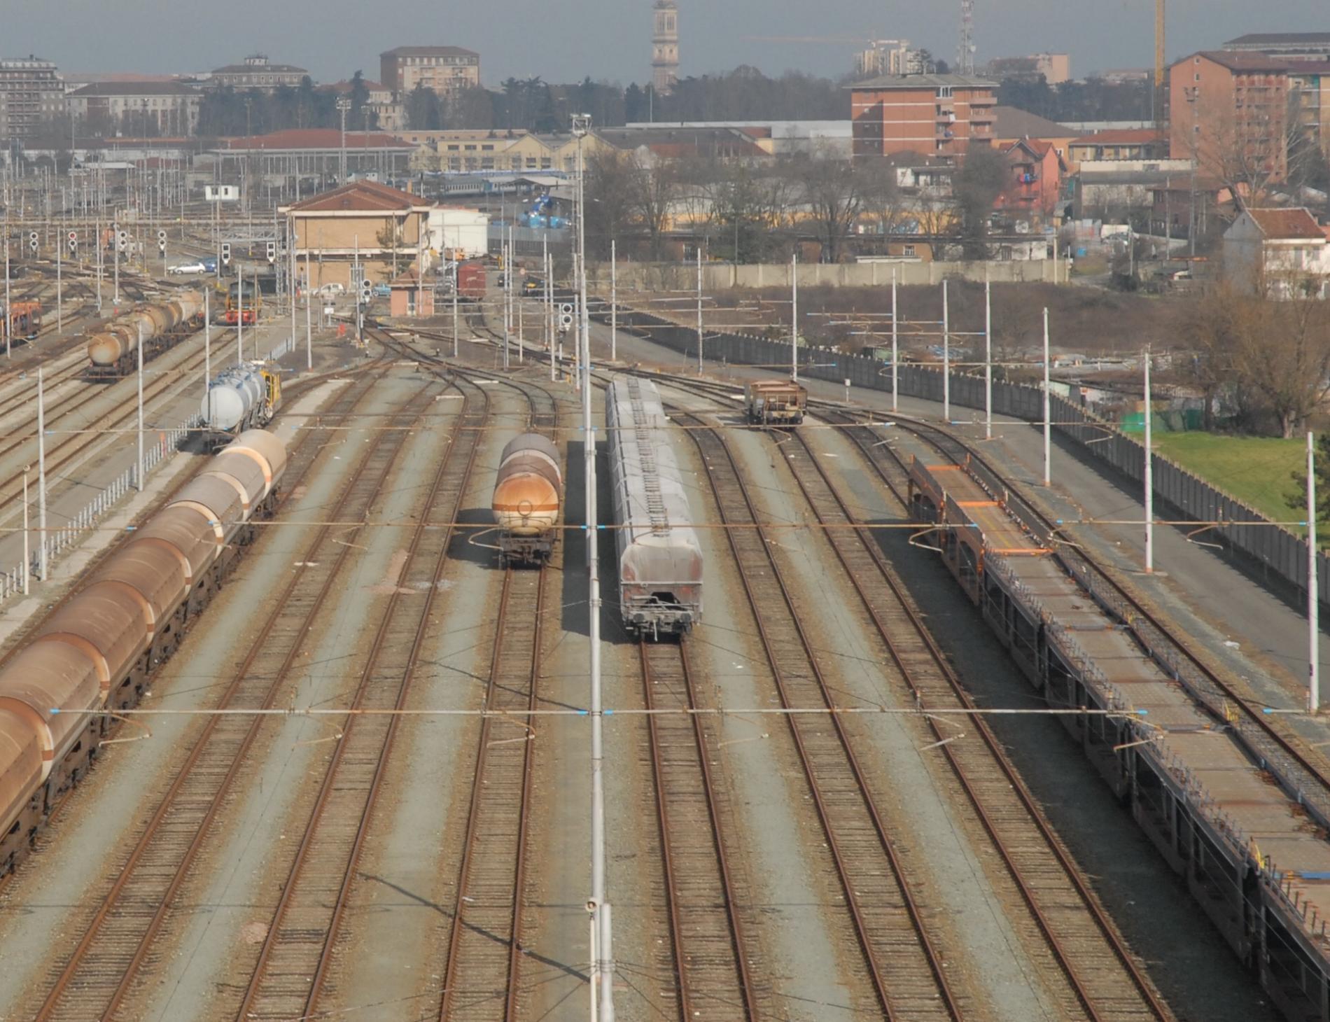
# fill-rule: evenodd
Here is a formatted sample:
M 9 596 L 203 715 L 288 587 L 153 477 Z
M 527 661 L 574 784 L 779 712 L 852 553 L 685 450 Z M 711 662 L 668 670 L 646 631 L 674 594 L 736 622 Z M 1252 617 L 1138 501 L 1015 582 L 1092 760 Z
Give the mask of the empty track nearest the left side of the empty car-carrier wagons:
M 902 703 L 974 709 L 878 544 L 866 530 L 846 527 L 857 519 L 807 438 L 786 434 L 781 447 L 818 522 L 834 526 L 823 536 L 886 647 L 894 671 L 883 676 L 898 687 Z M 944 731 L 935 717 L 928 728 L 963 792 L 959 801 L 968 800 L 1025 908 L 1012 922 L 1027 954 L 1044 966 L 1059 1017 L 1170 1019 L 986 721 L 972 717 L 966 724 L 978 741 L 956 741 L 956 732 Z

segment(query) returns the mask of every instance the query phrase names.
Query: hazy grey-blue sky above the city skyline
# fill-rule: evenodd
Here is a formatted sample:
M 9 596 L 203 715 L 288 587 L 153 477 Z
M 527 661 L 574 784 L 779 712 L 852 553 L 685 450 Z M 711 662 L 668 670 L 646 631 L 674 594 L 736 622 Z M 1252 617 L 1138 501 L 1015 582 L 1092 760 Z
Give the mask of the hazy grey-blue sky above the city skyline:
M 650 77 L 652 0 L 0 0 L 0 56 L 39 56 L 66 71 L 209 71 L 266 52 L 332 81 L 378 77 L 396 45 L 480 52 L 485 84 Z M 854 47 L 751 36 L 906 37 L 955 59 L 959 0 L 678 0 L 681 75 L 738 64 L 767 73 L 835 76 Z M 1153 61 L 1153 0 L 976 0 L 979 61 L 1067 51 L 1072 73 Z M 1245 32 L 1330 31 L 1325 0 L 1169 0 L 1168 56 L 1217 48 Z

